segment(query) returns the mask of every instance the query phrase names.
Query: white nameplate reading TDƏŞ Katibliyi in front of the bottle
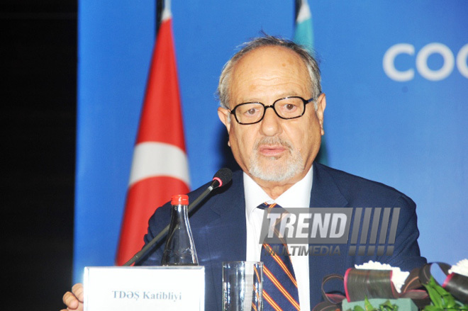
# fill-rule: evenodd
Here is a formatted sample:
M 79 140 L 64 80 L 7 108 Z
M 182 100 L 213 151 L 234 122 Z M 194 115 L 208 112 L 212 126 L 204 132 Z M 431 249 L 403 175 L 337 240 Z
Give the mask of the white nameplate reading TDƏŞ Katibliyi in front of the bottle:
M 203 311 L 204 305 L 204 266 L 84 268 L 84 311 Z

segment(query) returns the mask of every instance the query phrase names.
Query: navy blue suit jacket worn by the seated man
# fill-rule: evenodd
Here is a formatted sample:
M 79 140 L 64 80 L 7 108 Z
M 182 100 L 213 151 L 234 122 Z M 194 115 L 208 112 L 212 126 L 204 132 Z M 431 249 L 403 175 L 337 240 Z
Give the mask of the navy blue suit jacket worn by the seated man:
M 189 193 L 189 200 L 197 198 L 207 186 Z M 213 192 L 191 214 L 190 225 L 199 264 L 205 266 L 205 308 L 214 311 L 221 310 L 222 262 L 246 259 L 243 172 L 235 171 L 231 183 Z M 416 205 L 411 198 L 394 188 L 314 163 L 310 207 L 401 208 L 391 256 L 349 256 L 350 239 L 347 244 L 340 244 L 340 254 L 309 256 L 311 308 L 323 300 L 321 283 L 323 277 L 331 273 L 344 275 L 347 268 L 369 260 L 399 266 L 403 271 L 411 271 L 426 262 L 420 256 L 417 242 Z M 149 221 L 145 242 L 149 242 L 169 223 L 170 213 L 169 203 L 155 211 Z M 160 265 L 163 249 L 164 244 L 160 242 L 138 264 Z M 331 284 L 327 290 L 342 291 L 342 284 Z

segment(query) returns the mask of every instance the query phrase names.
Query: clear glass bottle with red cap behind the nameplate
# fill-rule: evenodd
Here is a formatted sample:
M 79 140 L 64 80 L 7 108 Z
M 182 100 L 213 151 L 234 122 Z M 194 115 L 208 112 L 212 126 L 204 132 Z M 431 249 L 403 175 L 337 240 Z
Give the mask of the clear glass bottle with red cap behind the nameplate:
M 162 254 L 163 266 L 197 266 L 194 237 L 191 235 L 187 207 L 189 196 L 179 194 L 172 196 L 172 213 L 166 246 Z

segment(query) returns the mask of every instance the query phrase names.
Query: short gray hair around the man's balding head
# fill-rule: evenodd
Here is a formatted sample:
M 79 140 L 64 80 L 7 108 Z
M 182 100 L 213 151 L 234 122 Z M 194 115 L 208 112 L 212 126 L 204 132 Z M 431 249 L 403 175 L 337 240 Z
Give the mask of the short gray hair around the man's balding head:
M 316 59 L 313 58 L 313 56 L 308 52 L 308 50 L 306 50 L 306 48 L 304 47 L 301 47 L 301 45 L 292 42 L 291 40 L 285 40 L 271 35 L 264 35 L 263 37 L 255 38 L 247 43 L 244 43 L 240 51 L 235 53 L 235 55 L 231 57 L 230 60 L 228 60 L 228 62 L 226 62 L 226 64 L 224 65 L 223 71 L 221 72 L 221 76 L 219 77 L 217 92 L 221 107 L 230 107 L 229 88 L 231 74 L 233 72 L 235 64 L 237 64 L 238 61 L 248 52 L 266 46 L 286 47 L 289 50 L 296 52 L 296 54 L 299 55 L 299 57 L 301 57 L 308 69 L 308 74 L 311 81 L 312 97 L 316 100 L 316 97 L 322 93 L 320 69 L 318 68 Z M 314 106 L 317 110 L 316 101 L 314 101 Z

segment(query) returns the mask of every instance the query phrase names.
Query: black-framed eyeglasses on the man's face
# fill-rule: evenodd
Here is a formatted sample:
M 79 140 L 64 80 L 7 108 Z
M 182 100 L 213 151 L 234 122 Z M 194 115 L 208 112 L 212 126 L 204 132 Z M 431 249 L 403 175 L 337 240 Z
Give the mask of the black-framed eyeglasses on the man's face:
M 307 101 L 299 96 L 279 98 L 272 105 L 265 106 L 263 103 L 240 103 L 230 110 L 239 124 L 255 124 L 263 120 L 267 108 L 272 108 L 279 118 L 289 120 L 301 117 L 306 112 Z

